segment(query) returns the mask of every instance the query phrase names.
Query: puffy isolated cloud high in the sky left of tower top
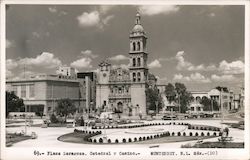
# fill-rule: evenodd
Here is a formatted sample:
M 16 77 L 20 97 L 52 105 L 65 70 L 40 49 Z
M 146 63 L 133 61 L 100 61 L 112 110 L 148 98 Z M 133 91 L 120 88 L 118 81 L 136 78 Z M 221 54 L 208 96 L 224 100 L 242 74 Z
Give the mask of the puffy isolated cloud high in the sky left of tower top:
M 97 26 L 103 28 L 104 25 L 108 25 L 110 20 L 114 18 L 113 15 L 102 16 L 98 11 L 83 12 L 77 17 L 80 27 L 93 27 Z

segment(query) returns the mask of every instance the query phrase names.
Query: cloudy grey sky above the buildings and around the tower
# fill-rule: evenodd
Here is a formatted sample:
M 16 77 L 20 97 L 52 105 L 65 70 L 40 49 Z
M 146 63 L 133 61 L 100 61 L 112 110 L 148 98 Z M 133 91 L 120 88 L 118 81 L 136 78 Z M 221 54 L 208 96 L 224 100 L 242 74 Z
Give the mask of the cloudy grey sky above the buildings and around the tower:
M 190 91 L 244 84 L 244 6 L 10 5 L 6 77 L 55 74 L 59 66 L 96 71 L 108 59 L 126 68 L 129 33 L 139 12 L 148 67 L 159 84 Z M 24 65 L 25 64 L 25 65 Z

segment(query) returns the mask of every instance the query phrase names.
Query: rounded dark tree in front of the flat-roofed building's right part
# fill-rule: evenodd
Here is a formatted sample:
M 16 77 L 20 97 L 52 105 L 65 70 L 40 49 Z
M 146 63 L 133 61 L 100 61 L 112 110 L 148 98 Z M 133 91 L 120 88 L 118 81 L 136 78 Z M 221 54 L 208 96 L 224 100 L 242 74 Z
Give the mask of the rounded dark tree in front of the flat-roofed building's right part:
M 58 106 L 56 107 L 56 113 L 60 116 L 65 117 L 64 122 L 66 122 L 67 116 L 69 114 L 74 114 L 75 112 L 76 112 L 76 107 L 69 98 L 61 99 L 58 101 Z

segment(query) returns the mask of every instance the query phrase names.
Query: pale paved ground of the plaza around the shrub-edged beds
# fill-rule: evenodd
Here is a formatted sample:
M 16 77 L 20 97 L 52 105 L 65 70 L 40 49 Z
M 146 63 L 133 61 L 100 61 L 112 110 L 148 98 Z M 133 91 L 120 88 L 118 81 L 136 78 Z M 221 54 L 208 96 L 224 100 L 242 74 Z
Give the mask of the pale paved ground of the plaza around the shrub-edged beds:
M 155 120 L 155 121 L 143 121 L 145 124 L 148 123 L 170 123 L 171 121 L 162 121 L 162 120 Z M 210 126 L 214 127 L 227 127 L 227 125 L 221 125 L 220 120 L 176 120 L 175 123 L 184 122 L 196 125 L 204 125 L 209 124 Z M 225 120 L 225 123 L 235 123 L 237 121 L 232 120 Z M 34 121 L 34 124 L 41 124 L 41 120 Z M 19 127 L 7 127 L 7 133 L 19 133 L 24 130 L 24 123 L 19 123 Z M 171 128 L 173 127 L 173 128 Z M 41 127 L 28 127 L 27 134 L 31 134 L 31 132 L 35 132 L 38 137 L 37 139 L 29 139 L 22 142 L 18 142 L 12 145 L 12 147 L 104 147 L 110 146 L 110 144 L 81 144 L 81 143 L 67 143 L 58 140 L 58 137 L 74 132 L 74 129 L 82 130 L 84 127 L 75 127 L 75 128 L 66 128 L 66 127 L 48 127 L 48 128 L 41 128 Z M 187 131 L 187 127 L 184 126 L 150 126 L 147 129 L 145 127 L 133 128 L 133 129 L 101 129 L 106 136 L 111 139 L 121 138 L 121 137 L 135 137 L 135 134 L 139 136 L 149 135 L 151 133 L 157 134 L 159 132 L 163 132 L 164 130 L 167 131 Z M 89 131 L 94 131 L 94 129 L 89 129 Z M 200 131 L 199 131 L 200 132 Z M 98 135 L 98 136 L 104 136 Z M 233 142 L 244 142 L 244 130 L 239 130 L 236 128 L 230 128 L 229 136 L 233 137 Z M 95 137 L 97 138 L 97 137 Z M 144 144 L 133 144 L 133 143 L 121 143 L 116 145 L 116 147 L 142 147 L 148 148 L 152 145 L 159 145 L 159 147 L 171 147 L 171 148 L 181 148 L 182 145 L 187 143 L 195 144 L 198 139 L 191 140 L 191 141 L 182 141 L 182 142 L 170 142 L 170 143 L 144 143 Z M 218 136 L 213 138 L 203 139 L 203 142 L 217 142 Z M 146 142 L 146 141 L 145 141 Z

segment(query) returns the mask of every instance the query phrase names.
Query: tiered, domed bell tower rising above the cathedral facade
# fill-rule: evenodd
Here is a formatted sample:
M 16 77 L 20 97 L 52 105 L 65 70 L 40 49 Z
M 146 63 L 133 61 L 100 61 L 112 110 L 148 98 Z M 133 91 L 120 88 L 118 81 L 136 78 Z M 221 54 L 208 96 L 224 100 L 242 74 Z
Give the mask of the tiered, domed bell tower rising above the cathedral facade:
M 141 16 L 136 14 L 135 26 L 130 32 L 130 77 L 133 83 L 145 83 L 148 79 L 147 68 L 147 37 L 141 25 Z

